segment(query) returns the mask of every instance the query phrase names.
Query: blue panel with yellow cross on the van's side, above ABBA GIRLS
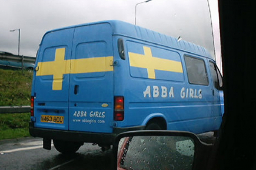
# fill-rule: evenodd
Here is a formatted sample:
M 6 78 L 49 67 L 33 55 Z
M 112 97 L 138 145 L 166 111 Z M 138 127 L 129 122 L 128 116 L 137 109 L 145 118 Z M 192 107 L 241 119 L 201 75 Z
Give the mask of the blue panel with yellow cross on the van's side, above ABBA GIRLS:
M 136 42 L 128 42 L 128 51 L 132 77 L 179 82 L 184 80 L 178 53 Z

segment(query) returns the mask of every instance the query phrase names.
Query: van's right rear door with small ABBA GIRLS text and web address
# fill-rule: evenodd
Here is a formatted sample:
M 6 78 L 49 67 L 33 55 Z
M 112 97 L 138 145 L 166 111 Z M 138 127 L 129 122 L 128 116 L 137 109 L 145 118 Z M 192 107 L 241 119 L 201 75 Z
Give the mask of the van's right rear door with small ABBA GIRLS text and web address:
M 112 133 L 112 27 L 108 23 L 77 27 L 72 51 L 69 130 Z

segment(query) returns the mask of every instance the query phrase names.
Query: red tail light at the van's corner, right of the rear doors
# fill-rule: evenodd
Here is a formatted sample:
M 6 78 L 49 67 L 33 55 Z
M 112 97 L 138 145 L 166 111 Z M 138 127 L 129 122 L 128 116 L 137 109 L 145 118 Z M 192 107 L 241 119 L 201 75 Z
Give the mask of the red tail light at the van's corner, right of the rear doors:
M 123 96 L 115 96 L 114 120 L 123 121 L 125 119 L 124 103 L 125 99 Z

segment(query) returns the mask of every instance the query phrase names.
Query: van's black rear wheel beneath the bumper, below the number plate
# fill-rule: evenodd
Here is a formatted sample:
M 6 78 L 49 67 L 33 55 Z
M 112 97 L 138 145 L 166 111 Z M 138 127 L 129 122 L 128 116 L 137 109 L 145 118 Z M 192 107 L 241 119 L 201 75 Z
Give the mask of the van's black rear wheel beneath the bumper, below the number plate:
M 56 150 L 60 153 L 71 154 L 79 150 L 81 144 L 77 142 L 53 140 L 53 144 Z

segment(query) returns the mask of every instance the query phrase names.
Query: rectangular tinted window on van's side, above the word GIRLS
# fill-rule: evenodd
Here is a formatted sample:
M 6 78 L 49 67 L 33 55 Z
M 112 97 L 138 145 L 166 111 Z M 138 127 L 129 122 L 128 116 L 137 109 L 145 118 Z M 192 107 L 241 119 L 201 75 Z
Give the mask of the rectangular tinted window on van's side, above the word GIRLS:
M 184 56 L 190 84 L 209 85 L 208 75 L 203 59 Z

